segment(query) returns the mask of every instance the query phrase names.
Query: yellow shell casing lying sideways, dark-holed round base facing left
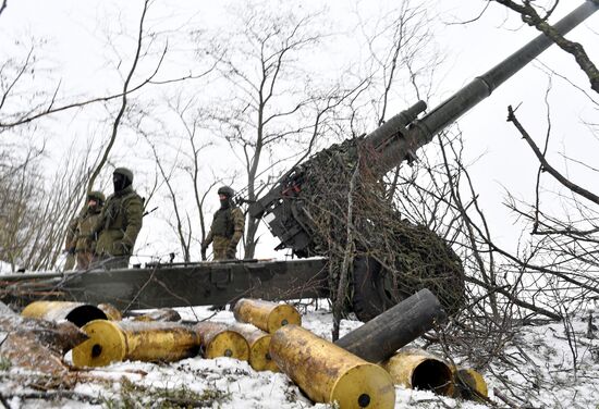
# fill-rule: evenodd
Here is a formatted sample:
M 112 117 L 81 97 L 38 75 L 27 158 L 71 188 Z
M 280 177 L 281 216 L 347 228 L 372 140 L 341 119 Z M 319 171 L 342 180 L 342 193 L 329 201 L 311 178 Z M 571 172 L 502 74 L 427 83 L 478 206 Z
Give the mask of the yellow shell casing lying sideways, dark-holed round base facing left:
M 172 362 L 196 356 L 200 345 L 195 331 L 172 322 L 96 320 L 82 330 L 89 339 L 73 348 L 77 367 L 103 367 L 124 360 Z

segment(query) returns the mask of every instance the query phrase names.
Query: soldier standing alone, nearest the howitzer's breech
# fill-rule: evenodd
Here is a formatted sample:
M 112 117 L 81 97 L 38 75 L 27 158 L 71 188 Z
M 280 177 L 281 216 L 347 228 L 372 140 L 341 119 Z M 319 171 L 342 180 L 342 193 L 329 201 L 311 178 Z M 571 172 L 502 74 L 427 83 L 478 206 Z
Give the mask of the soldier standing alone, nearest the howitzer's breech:
M 215 260 L 231 260 L 235 259 L 245 220 L 242 210 L 233 203 L 235 193 L 232 188 L 222 186 L 218 195 L 220 209 L 215 213 L 210 232 L 201 243 L 201 258 L 206 259 L 206 249 L 212 243 Z

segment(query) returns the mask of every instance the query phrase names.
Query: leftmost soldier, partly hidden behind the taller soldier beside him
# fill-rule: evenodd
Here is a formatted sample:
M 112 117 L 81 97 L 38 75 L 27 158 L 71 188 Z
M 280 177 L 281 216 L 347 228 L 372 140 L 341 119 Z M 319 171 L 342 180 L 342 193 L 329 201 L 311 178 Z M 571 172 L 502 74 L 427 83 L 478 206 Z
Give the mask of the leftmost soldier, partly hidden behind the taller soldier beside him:
M 71 245 L 69 253 L 75 255 L 77 270 L 87 270 L 94 259 L 97 237 L 96 235 L 91 235 L 91 231 L 100 218 L 105 200 L 106 197 L 101 191 L 90 191 L 87 195 L 85 210 L 73 219 L 69 225 L 66 236 L 68 243 Z

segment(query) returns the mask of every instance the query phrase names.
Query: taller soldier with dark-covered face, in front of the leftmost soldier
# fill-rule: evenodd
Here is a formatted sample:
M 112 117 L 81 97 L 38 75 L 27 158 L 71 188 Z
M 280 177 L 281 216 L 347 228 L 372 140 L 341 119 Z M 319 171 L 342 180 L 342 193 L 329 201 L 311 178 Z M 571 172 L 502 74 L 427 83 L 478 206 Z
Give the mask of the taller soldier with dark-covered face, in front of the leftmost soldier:
M 127 268 L 137 234 L 142 230 L 144 199 L 132 187 L 133 173 L 117 168 L 112 174 L 114 194 L 109 196 L 94 227 L 98 234 L 96 258 L 107 268 Z

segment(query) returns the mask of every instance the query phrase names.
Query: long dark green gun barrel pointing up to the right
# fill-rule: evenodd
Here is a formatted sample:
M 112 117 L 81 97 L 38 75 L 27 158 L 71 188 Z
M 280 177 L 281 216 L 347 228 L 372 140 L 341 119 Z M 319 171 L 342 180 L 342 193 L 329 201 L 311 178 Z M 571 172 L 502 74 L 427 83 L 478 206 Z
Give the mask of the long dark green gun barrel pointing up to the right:
M 587 0 L 560 20 L 553 27 L 561 35 L 565 35 L 598 9 L 599 1 Z M 487 73 L 473 79 L 423 119 L 414 121 L 407 132 L 400 137 L 395 137 L 398 129 L 386 132 L 388 142 L 379 144 L 384 148 L 378 150 L 379 156 L 377 158 L 372 158 L 372 169 L 376 170 L 377 174 L 382 175 L 395 168 L 411 152 L 432 140 L 435 135 L 490 96 L 497 87 L 536 59 L 552 44 L 553 41 L 545 34 L 539 35 Z M 380 139 L 381 136 L 379 135 L 377 138 Z

